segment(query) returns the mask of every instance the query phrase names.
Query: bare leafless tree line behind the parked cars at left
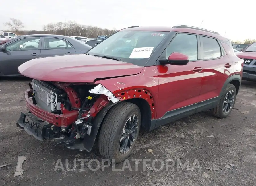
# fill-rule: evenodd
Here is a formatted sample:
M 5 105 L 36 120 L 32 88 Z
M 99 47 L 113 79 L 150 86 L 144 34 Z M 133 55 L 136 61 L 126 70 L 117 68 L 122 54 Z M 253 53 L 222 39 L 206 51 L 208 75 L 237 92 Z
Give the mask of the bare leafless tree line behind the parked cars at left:
M 94 38 L 102 35 L 111 35 L 116 30 L 102 29 L 97 26 L 81 25 L 75 21 L 67 21 L 66 29 L 65 22 L 49 23 L 43 26 L 42 31 L 38 30 L 23 30 L 25 28 L 21 20 L 10 18 L 8 22 L 5 23 L 10 30 L 15 32 L 17 35 L 29 35 L 29 34 L 57 34 L 66 36 L 84 36 L 88 38 Z

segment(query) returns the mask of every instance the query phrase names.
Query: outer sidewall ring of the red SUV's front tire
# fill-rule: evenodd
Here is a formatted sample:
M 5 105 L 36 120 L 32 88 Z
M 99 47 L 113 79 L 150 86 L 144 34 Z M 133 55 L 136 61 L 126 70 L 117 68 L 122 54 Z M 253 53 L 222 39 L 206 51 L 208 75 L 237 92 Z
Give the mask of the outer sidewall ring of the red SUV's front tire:
M 123 127 L 125 126 L 126 124 L 126 121 L 129 119 L 129 117 L 131 117 L 133 114 L 136 114 L 138 116 L 138 131 L 137 131 L 137 134 L 136 134 L 136 137 L 135 137 L 135 140 L 131 146 L 131 148 L 129 149 L 129 151 L 125 154 L 121 154 L 120 150 L 119 150 L 119 142 L 120 142 L 120 137 L 121 137 L 121 133 L 123 131 Z M 140 130 L 140 127 L 141 127 L 141 113 L 140 113 L 140 110 L 139 108 L 136 106 L 136 107 L 133 107 L 132 109 L 129 109 L 129 112 L 127 114 L 125 114 L 125 117 L 123 117 L 121 119 L 121 123 L 122 125 L 120 125 L 118 127 L 118 131 L 117 131 L 117 135 L 114 139 L 114 157 L 115 157 L 115 162 L 116 163 L 119 163 L 121 161 L 123 161 L 124 159 L 126 159 L 132 149 L 133 149 L 133 146 L 135 145 L 136 141 L 137 141 L 137 138 L 138 138 L 138 135 L 139 135 L 139 130 Z

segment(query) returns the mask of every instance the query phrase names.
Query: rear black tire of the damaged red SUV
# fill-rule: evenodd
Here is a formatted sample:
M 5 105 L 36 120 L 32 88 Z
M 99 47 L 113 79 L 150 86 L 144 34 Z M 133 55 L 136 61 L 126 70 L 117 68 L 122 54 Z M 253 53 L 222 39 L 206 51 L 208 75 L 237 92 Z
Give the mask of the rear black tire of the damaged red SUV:
M 229 109 L 223 110 L 224 109 L 224 101 L 225 101 L 225 106 L 227 105 L 226 100 L 229 97 L 228 93 L 229 93 L 229 95 L 234 95 L 234 97 L 231 96 L 231 97 L 233 97 L 232 98 L 233 104 L 231 105 L 232 102 L 230 102 L 230 105 L 228 105 Z M 232 109 L 234 108 L 235 102 L 236 102 L 236 87 L 233 84 L 228 84 L 226 89 L 222 92 L 221 95 L 222 96 L 220 98 L 220 101 L 218 102 L 218 105 L 215 108 L 211 109 L 211 113 L 215 117 L 226 118 L 231 113 Z M 227 98 L 226 98 L 226 96 L 227 96 Z

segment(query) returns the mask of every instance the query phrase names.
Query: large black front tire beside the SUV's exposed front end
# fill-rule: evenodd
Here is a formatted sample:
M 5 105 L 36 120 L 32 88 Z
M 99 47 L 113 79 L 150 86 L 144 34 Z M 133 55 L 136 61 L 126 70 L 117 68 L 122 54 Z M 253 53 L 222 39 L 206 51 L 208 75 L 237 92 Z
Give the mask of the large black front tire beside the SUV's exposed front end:
M 123 129 L 127 126 L 126 123 L 128 122 L 128 119 L 131 118 L 131 121 L 133 121 L 134 115 L 134 121 L 136 121 L 137 116 L 137 133 L 136 135 L 133 133 L 133 142 L 127 143 L 127 146 L 129 145 L 130 148 L 129 150 L 126 149 L 126 152 L 123 151 L 123 148 L 121 148 L 120 145 L 122 146 L 127 139 L 131 139 L 131 136 L 129 138 L 122 138 L 123 140 L 120 142 L 121 135 L 125 136 L 125 134 L 123 134 Z M 114 105 L 108 111 L 102 123 L 98 143 L 100 154 L 110 161 L 113 161 L 114 159 L 115 163 L 120 163 L 125 160 L 130 155 L 138 138 L 140 126 L 141 113 L 137 105 L 129 102 L 121 102 Z M 127 129 L 124 130 L 127 131 Z M 127 132 L 127 135 L 129 135 L 129 131 Z M 123 153 L 121 153 L 121 151 Z

